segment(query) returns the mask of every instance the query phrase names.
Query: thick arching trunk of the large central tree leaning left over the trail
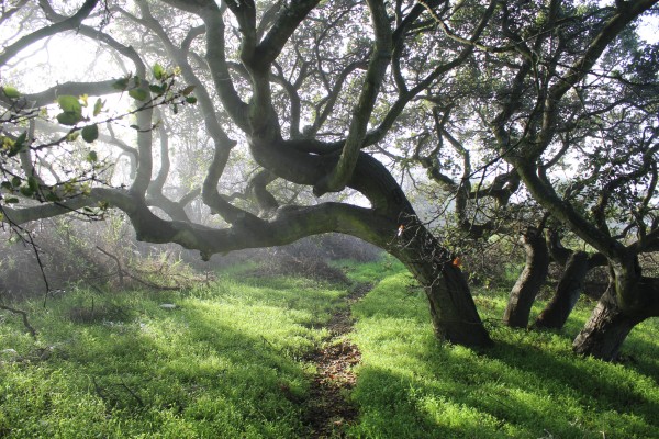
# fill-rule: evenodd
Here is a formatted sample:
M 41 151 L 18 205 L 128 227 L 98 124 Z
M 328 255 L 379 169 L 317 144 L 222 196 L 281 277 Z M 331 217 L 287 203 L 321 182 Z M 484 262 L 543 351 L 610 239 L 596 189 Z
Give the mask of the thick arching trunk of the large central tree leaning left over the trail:
M 324 170 L 331 170 L 336 165 L 337 153 L 324 154 L 313 149 L 315 147 L 314 143 L 302 140 L 266 143 L 253 138 L 250 142 L 250 150 L 257 162 L 276 176 L 300 184 L 315 184 Z M 418 221 L 389 170 L 376 158 L 360 153 L 348 185 L 370 201 L 369 217 L 336 217 L 322 232 L 357 236 L 400 259 L 425 288 L 435 333 L 440 339 L 465 346 L 491 345 L 459 268 L 451 264 L 446 249 Z M 308 207 L 312 209 L 320 207 Z M 361 211 L 347 205 L 343 209 L 346 214 Z M 293 209 L 289 215 L 304 211 Z M 311 226 L 317 227 L 319 224 L 304 222 L 300 225 L 301 228 Z

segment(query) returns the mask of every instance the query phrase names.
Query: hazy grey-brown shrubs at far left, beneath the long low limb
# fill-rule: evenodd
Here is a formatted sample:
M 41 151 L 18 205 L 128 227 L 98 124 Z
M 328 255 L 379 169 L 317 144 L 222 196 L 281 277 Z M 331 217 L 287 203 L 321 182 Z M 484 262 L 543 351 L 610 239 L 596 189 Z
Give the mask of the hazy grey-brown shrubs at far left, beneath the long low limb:
M 41 268 L 35 248 L 4 230 L 0 241 L 0 293 L 5 301 L 43 295 L 46 281 L 52 293 L 78 283 L 112 290 L 172 289 L 211 279 L 182 262 L 180 247 L 136 241 L 122 216 L 112 216 L 105 223 L 72 217 L 44 219 L 26 230 Z

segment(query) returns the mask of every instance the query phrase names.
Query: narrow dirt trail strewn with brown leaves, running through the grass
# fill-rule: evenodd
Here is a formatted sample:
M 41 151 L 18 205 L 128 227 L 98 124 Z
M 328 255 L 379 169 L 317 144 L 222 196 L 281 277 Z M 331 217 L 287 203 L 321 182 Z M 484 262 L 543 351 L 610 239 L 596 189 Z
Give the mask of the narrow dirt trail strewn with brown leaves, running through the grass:
M 350 306 L 371 289 L 371 284 L 358 285 L 346 296 L 348 306 L 334 314 L 326 325 L 330 338 L 323 344 L 323 348 L 308 358 L 317 369 L 306 401 L 305 421 L 312 430 L 310 438 L 345 437 L 342 434 L 345 426 L 357 419 L 356 407 L 344 395 L 355 386 L 353 368 L 361 360 L 361 353 L 357 346 L 342 338 L 353 330 L 355 323 Z

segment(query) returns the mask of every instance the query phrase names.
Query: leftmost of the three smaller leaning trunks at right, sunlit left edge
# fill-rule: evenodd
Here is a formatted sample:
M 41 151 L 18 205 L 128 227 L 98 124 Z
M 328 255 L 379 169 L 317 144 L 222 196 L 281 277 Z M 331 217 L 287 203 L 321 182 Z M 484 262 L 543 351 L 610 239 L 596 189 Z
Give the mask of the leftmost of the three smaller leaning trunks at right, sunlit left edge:
M 526 251 L 526 266 L 511 291 L 503 322 L 511 327 L 525 328 L 528 325 L 533 302 L 547 279 L 549 250 L 541 230 L 529 227 L 523 236 Z

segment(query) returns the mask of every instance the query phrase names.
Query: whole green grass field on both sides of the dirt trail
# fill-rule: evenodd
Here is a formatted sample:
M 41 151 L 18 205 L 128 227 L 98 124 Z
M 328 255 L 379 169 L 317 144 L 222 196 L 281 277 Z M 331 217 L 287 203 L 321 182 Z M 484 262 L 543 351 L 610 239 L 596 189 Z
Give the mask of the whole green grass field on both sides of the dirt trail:
M 443 345 L 400 264 L 343 263 L 375 288 L 353 306 L 361 350 L 358 438 L 659 437 L 659 324 L 635 329 L 625 361 L 574 357 L 562 333 L 503 327 L 504 292 L 476 292 L 496 347 Z M 72 289 L 30 313 L 0 312 L 0 437 L 298 438 L 323 325 L 350 286 L 220 273 L 181 292 Z M 175 304 L 167 309 L 161 304 Z M 536 309 L 537 312 L 538 309 Z

